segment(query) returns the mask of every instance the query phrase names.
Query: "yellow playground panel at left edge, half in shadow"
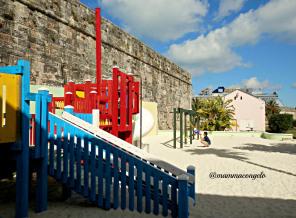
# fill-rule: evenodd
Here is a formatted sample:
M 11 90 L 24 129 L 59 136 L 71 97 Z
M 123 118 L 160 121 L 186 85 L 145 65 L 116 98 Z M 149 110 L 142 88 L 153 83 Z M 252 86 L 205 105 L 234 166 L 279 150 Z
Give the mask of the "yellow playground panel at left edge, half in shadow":
M 19 136 L 21 76 L 0 73 L 0 144 Z

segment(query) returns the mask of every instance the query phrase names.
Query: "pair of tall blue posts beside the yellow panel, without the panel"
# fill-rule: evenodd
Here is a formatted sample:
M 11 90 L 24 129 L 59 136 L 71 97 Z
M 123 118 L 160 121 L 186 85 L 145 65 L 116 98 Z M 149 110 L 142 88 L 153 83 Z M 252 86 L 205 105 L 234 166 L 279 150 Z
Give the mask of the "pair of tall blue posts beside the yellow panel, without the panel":
M 16 214 L 17 218 L 28 217 L 29 206 L 29 129 L 30 101 L 36 101 L 36 145 L 32 158 L 37 160 L 36 212 L 47 209 L 47 165 L 48 165 L 48 91 L 30 93 L 30 62 L 19 60 L 16 66 L 0 67 L 0 72 L 21 76 L 21 120 L 17 127 L 21 136 L 11 144 L 16 153 Z M 9 121 L 8 121 L 9 122 Z M 33 150 L 32 150 L 33 151 Z

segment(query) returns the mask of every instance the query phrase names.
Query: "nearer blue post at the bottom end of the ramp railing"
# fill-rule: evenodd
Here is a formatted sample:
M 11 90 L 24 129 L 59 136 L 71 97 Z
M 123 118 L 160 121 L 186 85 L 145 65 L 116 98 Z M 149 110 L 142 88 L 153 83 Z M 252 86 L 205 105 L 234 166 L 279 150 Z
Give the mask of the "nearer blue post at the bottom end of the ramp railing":
M 178 179 L 178 217 L 189 217 L 189 203 L 188 203 L 188 175 L 182 174 L 177 177 Z

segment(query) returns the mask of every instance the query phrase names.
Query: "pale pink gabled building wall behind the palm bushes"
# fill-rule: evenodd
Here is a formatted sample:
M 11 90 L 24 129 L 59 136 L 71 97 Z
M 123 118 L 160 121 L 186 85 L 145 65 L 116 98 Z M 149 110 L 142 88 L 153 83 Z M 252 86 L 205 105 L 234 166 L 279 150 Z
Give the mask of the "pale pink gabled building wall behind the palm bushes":
M 231 99 L 238 130 L 265 131 L 265 102 L 245 92 L 236 90 L 225 96 Z

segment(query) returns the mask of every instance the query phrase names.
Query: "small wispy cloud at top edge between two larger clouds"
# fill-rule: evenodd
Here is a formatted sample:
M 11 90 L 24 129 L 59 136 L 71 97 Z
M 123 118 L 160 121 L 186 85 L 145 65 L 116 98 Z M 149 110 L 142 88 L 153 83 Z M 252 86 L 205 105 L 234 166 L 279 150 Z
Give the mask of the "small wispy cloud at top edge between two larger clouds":
M 238 12 L 243 7 L 245 0 L 220 0 L 219 9 L 215 20 L 221 20 L 232 12 Z

